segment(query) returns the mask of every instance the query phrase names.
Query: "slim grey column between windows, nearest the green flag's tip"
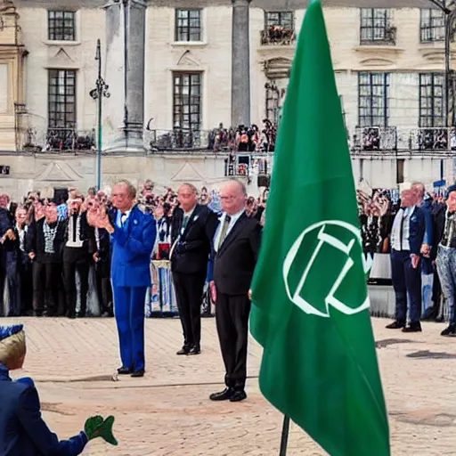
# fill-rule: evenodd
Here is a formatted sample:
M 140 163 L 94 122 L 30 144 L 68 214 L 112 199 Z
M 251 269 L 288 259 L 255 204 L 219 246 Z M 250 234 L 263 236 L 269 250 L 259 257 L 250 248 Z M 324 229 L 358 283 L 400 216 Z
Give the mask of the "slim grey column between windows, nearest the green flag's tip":
M 232 126 L 250 125 L 250 0 L 232 0 Z

